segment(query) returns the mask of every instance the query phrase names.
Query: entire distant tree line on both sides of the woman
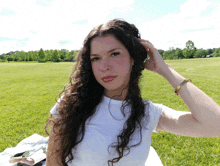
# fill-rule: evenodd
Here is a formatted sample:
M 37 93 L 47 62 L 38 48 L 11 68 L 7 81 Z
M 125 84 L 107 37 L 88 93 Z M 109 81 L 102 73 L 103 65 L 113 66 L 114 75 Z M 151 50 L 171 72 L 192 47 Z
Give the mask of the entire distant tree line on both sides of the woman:
M 184 49 L 173 48 L 164 51 L 158 50 L 163 59 L 189 59 L 189 58 L 205 58 L 205 57 L 220 57 L 220 48 L 213 49 L 197 49 L 194 42 L 188 40 Z M 75 61 L 78 51 L 61 50 L 43 50 L 39 51 L 15 51 L 0 55 L 1 61 Z

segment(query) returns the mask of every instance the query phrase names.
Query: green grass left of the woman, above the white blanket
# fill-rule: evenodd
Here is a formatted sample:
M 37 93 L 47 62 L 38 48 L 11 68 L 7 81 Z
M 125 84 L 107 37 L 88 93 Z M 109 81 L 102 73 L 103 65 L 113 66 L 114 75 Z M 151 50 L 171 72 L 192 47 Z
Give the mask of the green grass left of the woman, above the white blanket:
M 73 63 L 0 63 L 0 152 L 44 127 Z

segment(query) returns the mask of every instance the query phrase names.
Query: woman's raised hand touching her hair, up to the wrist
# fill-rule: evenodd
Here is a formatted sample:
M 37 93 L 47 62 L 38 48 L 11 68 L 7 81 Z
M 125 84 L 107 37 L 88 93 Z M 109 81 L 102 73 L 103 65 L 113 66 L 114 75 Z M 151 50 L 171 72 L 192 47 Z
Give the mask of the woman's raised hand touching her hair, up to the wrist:
M 156 72 L 158 74 L 164 73 L 168 64 L 163 60 L 158 50 L 148 40 L 140 39 L 141 44 L 146 48 L 149 58 L 144 62 L 145 69 Z

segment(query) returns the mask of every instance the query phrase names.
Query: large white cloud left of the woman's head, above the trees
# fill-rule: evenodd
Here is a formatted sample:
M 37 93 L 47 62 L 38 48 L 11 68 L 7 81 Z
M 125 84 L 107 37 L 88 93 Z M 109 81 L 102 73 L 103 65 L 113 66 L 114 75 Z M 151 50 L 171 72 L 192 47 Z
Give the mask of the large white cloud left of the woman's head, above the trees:
M 38 5 L 38 4 L 41 5 Z M 0 36 L 15 39 L 0 41 L 4 47 L 0 54 L 15 50 L 61 49 L 60 40 L 68 40 L 67 49 L 79 49 L 89 31 L 110 18 L 115 8 L 126 10 L 133 0 L 54 0 L 43 3 L 36 0 L 7 0 L 0 2 L 0 11 L 10 9 L 14 15 L 0 15 Z M 77 21 L 88 20 L 86 24 Z M 28 38 L 26 46 L 18 40 Z

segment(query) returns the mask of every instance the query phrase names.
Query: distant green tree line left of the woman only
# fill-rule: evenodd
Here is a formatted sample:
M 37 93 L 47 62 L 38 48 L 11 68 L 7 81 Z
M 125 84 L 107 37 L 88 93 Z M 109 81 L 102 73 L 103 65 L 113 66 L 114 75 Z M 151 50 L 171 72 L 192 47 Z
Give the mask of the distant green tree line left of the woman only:
M 64 62 L 75 61 L 78 51 L 61 50 L 43 50 L 39 51 L 11 51 L 0 55 L 0 61 L 38 61 L 38 62 Z

